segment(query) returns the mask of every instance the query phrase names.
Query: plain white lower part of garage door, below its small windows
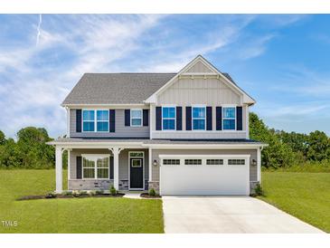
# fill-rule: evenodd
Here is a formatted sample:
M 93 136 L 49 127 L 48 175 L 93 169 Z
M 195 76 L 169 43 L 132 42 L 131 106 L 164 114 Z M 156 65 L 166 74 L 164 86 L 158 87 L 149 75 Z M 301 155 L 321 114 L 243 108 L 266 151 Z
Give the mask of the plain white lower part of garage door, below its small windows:
M 249 166 L 162 165 L 162 195 L 249 195 Z

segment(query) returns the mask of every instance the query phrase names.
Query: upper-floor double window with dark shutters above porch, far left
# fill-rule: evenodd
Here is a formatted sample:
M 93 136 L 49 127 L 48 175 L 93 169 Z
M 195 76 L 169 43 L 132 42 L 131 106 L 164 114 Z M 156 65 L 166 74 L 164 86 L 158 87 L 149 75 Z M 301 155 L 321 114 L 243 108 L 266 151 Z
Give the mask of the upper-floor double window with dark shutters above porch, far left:
M 82 110 L 83 132 L 108 132 L 108 110 Z

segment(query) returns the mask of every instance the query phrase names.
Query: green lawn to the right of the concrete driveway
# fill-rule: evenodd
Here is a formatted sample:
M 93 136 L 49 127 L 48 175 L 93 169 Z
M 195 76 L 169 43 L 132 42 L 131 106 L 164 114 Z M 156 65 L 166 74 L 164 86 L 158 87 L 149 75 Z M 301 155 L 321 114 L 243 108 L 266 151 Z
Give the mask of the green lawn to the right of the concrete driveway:
M 330 173 L 263 172 L 259 197 L 330 233 Z

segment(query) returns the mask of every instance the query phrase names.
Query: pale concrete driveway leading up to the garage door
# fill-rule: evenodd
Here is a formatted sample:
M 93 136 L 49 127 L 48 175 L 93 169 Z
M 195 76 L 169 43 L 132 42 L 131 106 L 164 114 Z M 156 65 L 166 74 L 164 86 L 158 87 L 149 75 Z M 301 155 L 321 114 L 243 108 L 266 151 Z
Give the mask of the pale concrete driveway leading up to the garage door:
M 249 196 L 163 196 L 165 233 L 323 233 Z

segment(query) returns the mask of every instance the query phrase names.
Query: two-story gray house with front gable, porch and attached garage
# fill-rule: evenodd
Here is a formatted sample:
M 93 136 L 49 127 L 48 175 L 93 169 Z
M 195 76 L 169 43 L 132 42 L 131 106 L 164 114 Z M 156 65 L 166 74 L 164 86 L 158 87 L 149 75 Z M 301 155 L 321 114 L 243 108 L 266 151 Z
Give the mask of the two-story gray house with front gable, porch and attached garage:
M 68 150 L 69 190 L 250 195 L 265 146 L 249 138 L 254 103 L 201 55 L 177 73 L 86 73 L 61 104 L 66 138 L 50 142 L 56 192 Z

